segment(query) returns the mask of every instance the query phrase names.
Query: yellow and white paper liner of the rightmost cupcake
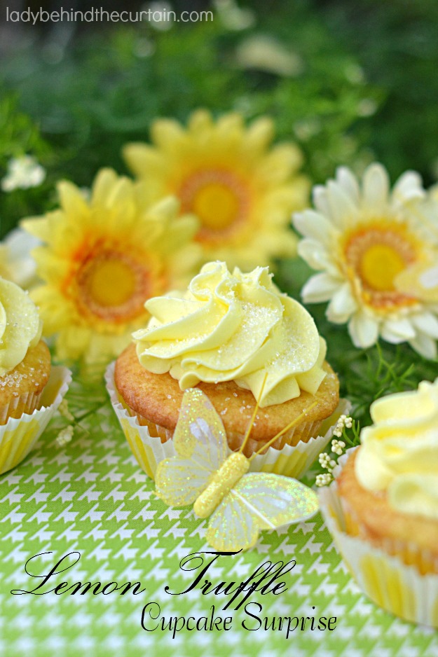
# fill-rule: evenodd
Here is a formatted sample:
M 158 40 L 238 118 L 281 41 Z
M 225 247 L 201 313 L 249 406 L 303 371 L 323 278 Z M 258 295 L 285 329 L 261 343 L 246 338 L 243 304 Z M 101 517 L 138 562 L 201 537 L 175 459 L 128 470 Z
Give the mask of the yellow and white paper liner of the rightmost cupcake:
M 340 467 L 348 456 L 339 459 Z M 335 469 L 335 476 L 338 471 Z M 349 519 L 338 496 L 336 480 L 320 489 L 320 509 L 338 551 L 365 595 L 395 616 L 438 628 L 438 575 L 422 574 L 420 568 L 404 562 L 404 555 L 400 558 L 388 553 L 387 548 L 397 549 L 396 541 L 378 547 L 346 534 Z M 413 545 L 409 548 L 411 559 L 427 561 L 427 554 Z

